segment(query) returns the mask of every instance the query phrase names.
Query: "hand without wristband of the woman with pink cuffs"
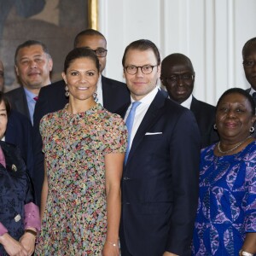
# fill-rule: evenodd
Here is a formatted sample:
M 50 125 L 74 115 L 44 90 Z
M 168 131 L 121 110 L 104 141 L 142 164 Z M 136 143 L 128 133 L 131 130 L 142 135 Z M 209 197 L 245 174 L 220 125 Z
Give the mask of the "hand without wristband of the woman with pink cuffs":
M 0 242 L 2 243 L 6 253 L 10 256 L 28 256 L 26 249 L 20 244 L 19 241 L 16 241 L 13 237 L 9 236 L 8 233 L 0 236 Z

